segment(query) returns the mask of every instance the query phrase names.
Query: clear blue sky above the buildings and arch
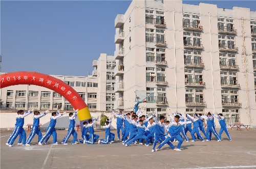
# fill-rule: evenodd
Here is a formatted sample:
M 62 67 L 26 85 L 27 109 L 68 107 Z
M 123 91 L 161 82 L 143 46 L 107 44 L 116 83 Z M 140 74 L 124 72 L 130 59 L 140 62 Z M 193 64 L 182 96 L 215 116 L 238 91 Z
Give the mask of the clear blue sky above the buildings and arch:
M 256 11 L 255 1 L 183 1 Z M 100 53 L 114 54 L 117 14 L 131 1 L 1 1 L 2 72 L 86 76 Z

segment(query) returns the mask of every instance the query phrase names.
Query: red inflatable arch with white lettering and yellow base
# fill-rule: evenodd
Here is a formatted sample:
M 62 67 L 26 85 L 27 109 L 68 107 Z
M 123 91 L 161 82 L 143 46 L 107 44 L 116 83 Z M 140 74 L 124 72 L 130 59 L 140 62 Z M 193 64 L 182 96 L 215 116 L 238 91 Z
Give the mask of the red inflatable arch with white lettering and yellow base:
M 80 123 L 91 119 L 88 106 L 81 96 L 65 82 L 47 74 L 37 72 L 11 72 L 0 75 L 0 89 L 14 85 L 36 85 L 51 89 L 65 97 L 74 109 L 78 109 Z

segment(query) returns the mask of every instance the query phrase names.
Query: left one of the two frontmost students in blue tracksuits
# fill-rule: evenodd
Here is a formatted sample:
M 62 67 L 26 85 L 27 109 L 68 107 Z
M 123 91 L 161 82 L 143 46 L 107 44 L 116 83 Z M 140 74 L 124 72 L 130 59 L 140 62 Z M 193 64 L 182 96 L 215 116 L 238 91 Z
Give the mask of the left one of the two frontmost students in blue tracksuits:
M 154 144 L 153 144 L 152 152 L 155 151 L 158 141 L 162 143 L 165 140 L 166 130 L 164 125 L 164 120 L 165 120 L 164 116 L 160 116 L 159 120 L 157 119 L 157 117 L 155 118 L 156 126 L 155 126 L 155 136 L 154 136 Z M 170 142 L 167 142 L 167 144 L 169 146 L 172 146 Z

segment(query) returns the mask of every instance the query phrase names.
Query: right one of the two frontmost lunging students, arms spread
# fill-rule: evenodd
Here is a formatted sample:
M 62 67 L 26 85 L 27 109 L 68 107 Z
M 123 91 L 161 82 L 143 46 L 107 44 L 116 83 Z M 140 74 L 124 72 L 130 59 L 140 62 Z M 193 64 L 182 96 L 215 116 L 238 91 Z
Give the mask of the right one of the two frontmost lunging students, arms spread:
M 180 116 L 176 115 L 174 117 L 174 121 L 170 122 L 169 124 L 169 131 L 168 131 L 168 136 L 166 137 L 166 139 L 164 140 L 163 143 L 161 143 L 158 148 L 156 149 L 156 151 L 158 151 L 159 149 L 161 149 L 166 143 L 170 146 L 170 148 L 172 148 L 173 150 L 176 151 L 181 151 L 180 147 L 183 143 L 183 138 L 180 135 L 180 131 L 181 128 L 183 127 L 184 124 L 186 124 L 187 122 L 181 122 L 179 121 Z M 177 148 L 174 147 L 174 145 L 170 142 L 173 142 L 174 139 L 178 140 L 178 145 Z

